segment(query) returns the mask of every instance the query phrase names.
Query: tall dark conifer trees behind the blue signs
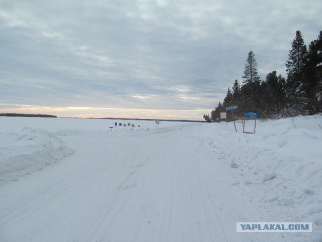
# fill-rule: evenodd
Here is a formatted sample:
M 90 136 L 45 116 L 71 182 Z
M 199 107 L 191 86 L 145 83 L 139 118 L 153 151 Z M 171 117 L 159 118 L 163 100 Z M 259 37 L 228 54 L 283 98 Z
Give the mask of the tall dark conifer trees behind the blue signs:
M 241 118 L 244 111 L 257 112 L 259 118 L 282 118 L 296 114 L 310 115 L 322 112 L 322 31 L 307 47 L 298 30 L 289 58 L 285 63 L 287 78 L 277 76 L 276 71 L 260 80 L 255 54 L 250 51 L 246 60 L 243 84 L 234 81 L 228 87 L 226 97 L 212 110 L 204 114 L 207 122 L 217 122 L 220 112 L 236 105 L 234 116 Z M 227 112 L 231 120 L 231 113 Z

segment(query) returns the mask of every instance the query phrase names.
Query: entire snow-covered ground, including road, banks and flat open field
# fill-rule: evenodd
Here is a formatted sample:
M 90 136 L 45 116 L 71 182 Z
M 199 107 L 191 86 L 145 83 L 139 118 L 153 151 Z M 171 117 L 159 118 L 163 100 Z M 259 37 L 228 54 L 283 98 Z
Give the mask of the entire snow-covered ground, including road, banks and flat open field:
M 0 117 L 0 241 L 322 241 L 322 116 L 236 127 Z

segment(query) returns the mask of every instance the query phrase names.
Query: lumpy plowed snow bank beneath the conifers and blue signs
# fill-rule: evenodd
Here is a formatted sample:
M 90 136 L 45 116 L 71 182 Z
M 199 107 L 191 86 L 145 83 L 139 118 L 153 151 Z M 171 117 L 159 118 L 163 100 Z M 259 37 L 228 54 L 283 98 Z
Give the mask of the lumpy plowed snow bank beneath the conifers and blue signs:
M 313 234 L 290 241 L 322 241 L 322 116 L 296 117 L 294 125 L 291 118 L 258 122 L 256 134 L 243 134 L 240 124 L 238 133 L 231 123 L 214 126 L 213 149 L 233 168 L 232 186 L 261 211 L 260 221 L 312 222 Z

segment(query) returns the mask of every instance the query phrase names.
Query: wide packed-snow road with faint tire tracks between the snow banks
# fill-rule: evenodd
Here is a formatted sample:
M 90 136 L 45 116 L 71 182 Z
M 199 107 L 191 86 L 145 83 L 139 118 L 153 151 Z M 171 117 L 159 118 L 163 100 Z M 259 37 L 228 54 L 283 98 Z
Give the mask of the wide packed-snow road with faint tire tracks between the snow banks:
M 236 222 L 266 222 L 285 205 L 275 212 L 274 201 L 262 201 L 266 209 L 258 205 L 266 195 L 273 197 L 265 194 L 267 181 L 257 185 L 252 176 L 240 175 L 229 147 L 221 149 L 222 142 L 233 149 L 249 136 L 239 134 L 231 143 L 220 133 L 216 137 L 209 124 L 109 132 L 37 128 L 49 130 L 73 153 L 0 186 L 0 241 L 320 241 L 316 232 L 236 232 Z M 252 149 L 254 156 L 258 149 Z M 248 183 L 266 191 L 241 188 Z M 320 190 L 314 192 L 321 200 Z M 297 209 L 290 206 L 286 218 Z M 265 216 L 270 210 L 272 216 Z M 321 228 L 318 216 L 313 232 Z

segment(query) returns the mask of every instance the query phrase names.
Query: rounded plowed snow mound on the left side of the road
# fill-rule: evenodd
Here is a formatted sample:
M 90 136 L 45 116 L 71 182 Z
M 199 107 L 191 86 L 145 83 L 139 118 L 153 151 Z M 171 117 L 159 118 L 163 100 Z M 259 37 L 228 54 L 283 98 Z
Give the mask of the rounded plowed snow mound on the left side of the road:
M 42 170 L 72 153 L 46 130 L 25 127 L 19 133 L 0 133 L 0 184 Z

